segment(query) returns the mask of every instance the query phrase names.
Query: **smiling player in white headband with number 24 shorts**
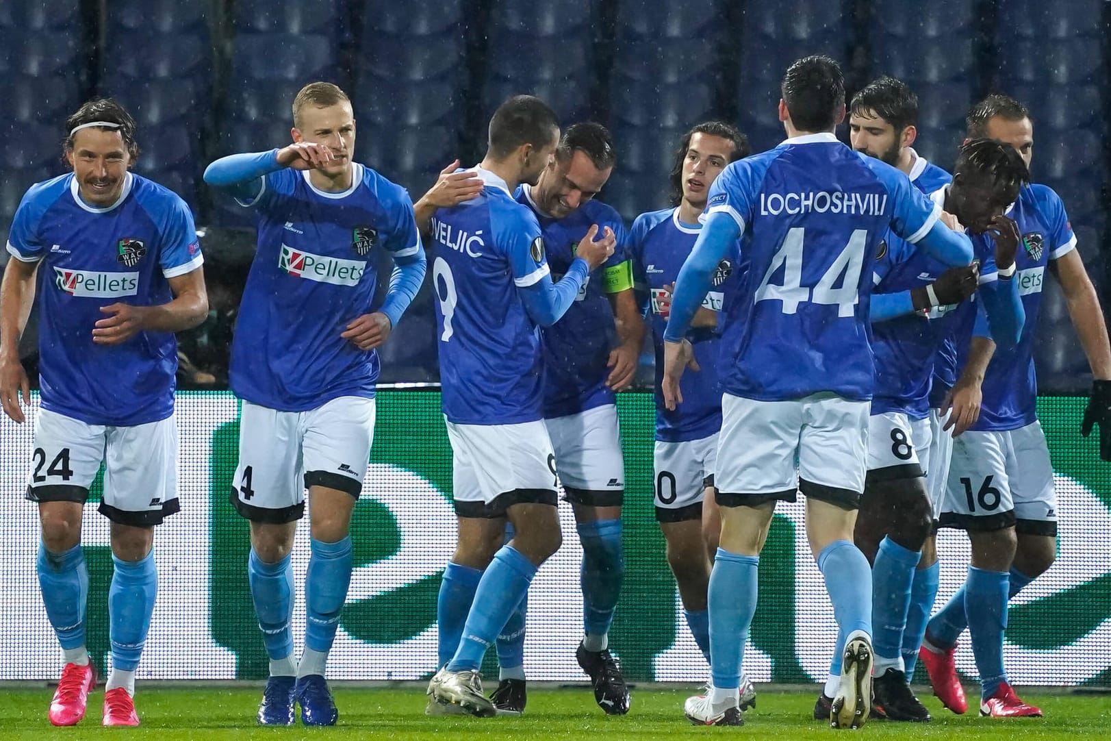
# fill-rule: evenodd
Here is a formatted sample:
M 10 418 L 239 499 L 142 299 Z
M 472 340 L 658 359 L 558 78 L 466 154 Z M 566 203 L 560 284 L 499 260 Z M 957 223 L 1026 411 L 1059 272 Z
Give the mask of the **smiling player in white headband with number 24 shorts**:
M 158 585 L 154 525 L 179 507 L 173 332 L 203 321 L 208 297 L 189 207 L 130 172 L 139 156 L 131 116 L 92 100 L 66 131 L 73 171 L 32 186 L 8 237 L 0 402 L 24 420 L 19 398 L 30 403 L 30 392 L 17 343 L 38 290 L 41 409 L 27 499 L 39 504 L 39 585 L 66 661 L 49 719 L 79 722 L 97 679 L 86 648 L 81 513 L 103 463 L 99 510 L 111 521 L 114 567 L 103 724 L 138 725 L 136 670 Z

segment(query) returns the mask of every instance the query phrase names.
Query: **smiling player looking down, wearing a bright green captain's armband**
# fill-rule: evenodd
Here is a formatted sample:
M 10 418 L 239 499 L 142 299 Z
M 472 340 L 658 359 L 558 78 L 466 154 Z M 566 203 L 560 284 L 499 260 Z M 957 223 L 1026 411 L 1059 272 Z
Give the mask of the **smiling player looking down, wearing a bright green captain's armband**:
M 537 184 L 522 183 L 514 198 L 540 222 L 557 280 L 592 227 L 609 228 L 617 240 L 613 254 L 587 278 L 567 313 L 541 330 L 541 348 L 544 427 L 582 543 L 584 637 L 575 658 L 590 677 L 599 707 L 609 714 L 624 714 L 629 690 L 609 651 L 609 628 L 624 575 L 624 460 L 613 393 L 632 381 L 644 322 L 632 291 L 624 223 L 594 198 L 614 162 L 605 127 L 575 123 L 563 132 Z M 503 713 L 524 710 L 527 607 L 522 600 L 498 638 L 501 677 L 492 700 Z

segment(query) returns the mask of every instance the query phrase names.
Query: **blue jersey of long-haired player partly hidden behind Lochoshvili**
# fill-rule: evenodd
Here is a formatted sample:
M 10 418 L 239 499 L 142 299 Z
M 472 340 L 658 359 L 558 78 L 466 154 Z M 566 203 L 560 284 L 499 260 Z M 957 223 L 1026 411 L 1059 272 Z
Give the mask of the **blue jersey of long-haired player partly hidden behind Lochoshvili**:
M 698 240 L 701 224 L 683 223 L 679 209 L 642 213 L 633 221 L 630 246 L 633 272 L 648 292 L 648 312 L 655 348 L 655 439 L 664 442 L 701 440 L 721 430 L 721 388 L 718 362 L 721 338 L 717 328 L 694 328 L 687 339 L 694 347 L 699 371 L 688 371 L 679 380 L 683 403 L 674 411 L 663 405 L 663 331 L 671 316 L 669 294 L 664 286 L 674 283 L 683 261 Z M 727 297 L 733 292 L 739 266 L 738 258 L 722 260 L 713 274 L 713 288 L 702 307 L 721 312 Z

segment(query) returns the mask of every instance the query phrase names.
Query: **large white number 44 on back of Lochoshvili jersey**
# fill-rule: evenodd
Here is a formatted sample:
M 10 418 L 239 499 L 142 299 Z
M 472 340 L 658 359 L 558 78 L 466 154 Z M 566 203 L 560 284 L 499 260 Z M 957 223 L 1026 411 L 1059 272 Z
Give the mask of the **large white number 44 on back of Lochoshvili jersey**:
M 821 303 L 837 307 L 838 317 L 852 317 L 857 302 L 860 300 L 858 284 L 860 271 L 864 266 L 864 248 L 868 246 L 868 232 L 857 229 L 844 246 L 813 291 L 802 284 L 802 238 L 805 229 L 795 227 L 789 229 L 787 239 L 771 259 L 768 272 L 757 289 L 755 301 L 779 300 L 783 302 L 783 313 L 793 314 L 803 302 Z M 783 282 L 772 283 L 771 277 L 783 268 Z M 841 286 L 837 287 L 835 283 Z

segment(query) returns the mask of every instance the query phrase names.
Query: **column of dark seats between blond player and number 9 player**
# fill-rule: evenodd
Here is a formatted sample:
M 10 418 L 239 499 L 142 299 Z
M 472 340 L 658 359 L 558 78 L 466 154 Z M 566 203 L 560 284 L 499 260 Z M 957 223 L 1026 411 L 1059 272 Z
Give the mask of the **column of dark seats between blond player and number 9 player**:
M 413 198 L 460 157 L 466 124 L 463 0 L 362 3 L 353 102 L 357 158 Z M 470 163 L 468 163 L 470 164 Z

